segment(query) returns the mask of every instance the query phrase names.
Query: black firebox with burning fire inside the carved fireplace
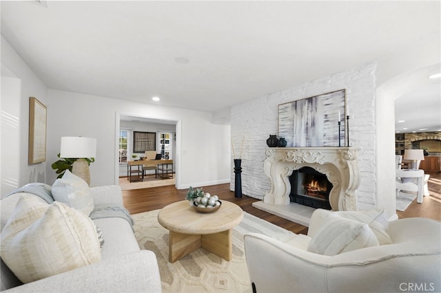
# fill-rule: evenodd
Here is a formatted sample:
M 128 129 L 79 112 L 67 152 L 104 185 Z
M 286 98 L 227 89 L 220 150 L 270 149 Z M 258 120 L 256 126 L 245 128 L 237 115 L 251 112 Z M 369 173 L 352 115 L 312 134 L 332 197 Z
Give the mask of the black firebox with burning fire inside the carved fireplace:
M 333 186 L 325 174 L 305 166 L 293 171 L 289 182 L 291 183 L 289 194 L 291 202 L 312 208 L 331 209 L 329 193 Z

